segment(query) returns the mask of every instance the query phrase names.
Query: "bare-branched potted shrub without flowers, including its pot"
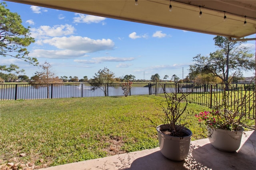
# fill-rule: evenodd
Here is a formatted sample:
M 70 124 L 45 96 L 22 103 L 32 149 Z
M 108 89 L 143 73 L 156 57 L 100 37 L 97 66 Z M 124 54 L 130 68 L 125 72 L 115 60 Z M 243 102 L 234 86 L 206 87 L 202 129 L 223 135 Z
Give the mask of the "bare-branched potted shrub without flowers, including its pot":
M 187 95 L 182 92 L 168 94 L 164 90 L 165 98 L 160 102 L 164 124 L 156 127 L 158 142 L 161 153 L 170 160 L 184 160 L 190 149 L 192 132 L 186 128 L 188 122 L 184 122 L 188 106 Z

